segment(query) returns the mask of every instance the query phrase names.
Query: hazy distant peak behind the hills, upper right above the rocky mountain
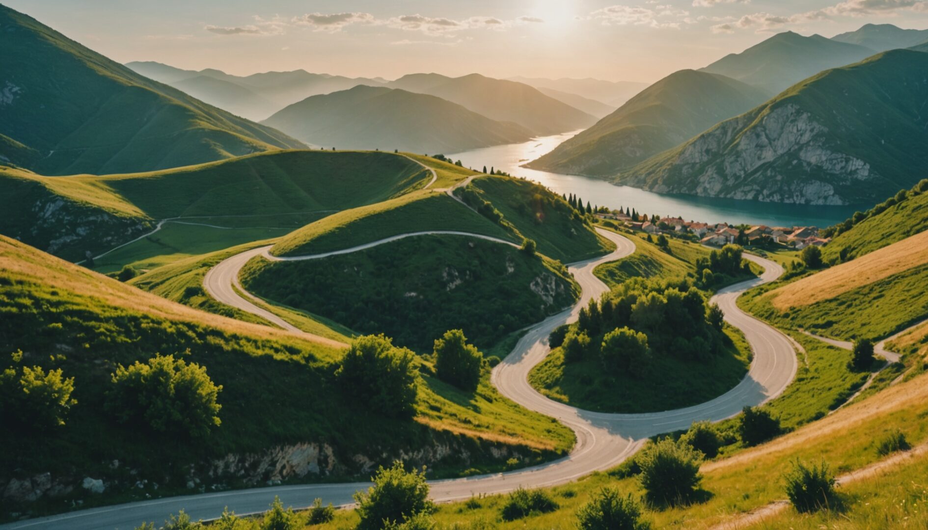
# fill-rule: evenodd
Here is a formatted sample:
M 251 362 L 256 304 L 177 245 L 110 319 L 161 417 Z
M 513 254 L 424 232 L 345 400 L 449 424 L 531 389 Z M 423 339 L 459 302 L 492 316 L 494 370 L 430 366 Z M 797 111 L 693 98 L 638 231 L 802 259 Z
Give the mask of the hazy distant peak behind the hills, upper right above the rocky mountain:
M 741 53 L 720 58 L 702 71 L 727 75 L 777 94 L 819 71 L 851 64 L 874 53 L 868 47 L 821 35 L 782 32 Z

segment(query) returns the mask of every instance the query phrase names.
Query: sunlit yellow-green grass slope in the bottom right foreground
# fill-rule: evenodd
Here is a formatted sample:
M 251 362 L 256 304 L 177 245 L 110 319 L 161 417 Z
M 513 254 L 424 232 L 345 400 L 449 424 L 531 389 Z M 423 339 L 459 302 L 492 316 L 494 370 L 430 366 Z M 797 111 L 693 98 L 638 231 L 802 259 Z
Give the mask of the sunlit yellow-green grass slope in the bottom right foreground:
M 730 458 L 703 464 L 702 489 L 706 493 L 702 496 L 702 501 L 677 508 L 646 510 L 644 519 L 655 528 L 709 528 L 728 521 L 732 516 L 785 498 L 780 474 L 790 468 L 793 459 L 799 458 L 806 462 L 825 459 L 831 464 L 834 472 L 844 473 L 882 459 L 876 451 L 876 446 L 884 435 L 896 429 L 905 433 L 911 445 L 921 443 L 928 438 L 928 423 L 923 421 L 923 418 L 928 416 L 926 377 L 928 376 L 887 389 L 864 402 L 846 407 L 767 444 L 743 450 Z M 899 474 L 895 475 L 896 483 L 887 483 L 896 484 L 896 488 L 878 494 L 879 497 L 893 498 L 888 494 L 900 491 L 898 485 L 905 488 L 902 491 L 923 495 L 923 482 L 918 482 L 923 471 L 917 471 L 917 466 L 922 461 L 916 460 L 912 462 L 913 465 L 901 468 Z M 917 489 L 913 483 L 921 489 Z M 506 496 L 486 496 L 472 498 L 466 502 L 441 504 L 433 519 L 438 524 L 448 527 L 458 524 L 458 528 L 567 530 L 575 527 L 574 512 L 594 492 L 606 485 L 616 487 L 623 495 L 630 494 L 636 499 L 643 493 L 636 478 L 622 479 L 610 473 L 593 473 L 572 484 L 546 488 L 560 505 L 558 511 L 506 522 L 500 515 Z M 853 490 L 848 487 L 848 491 Z M 869 488 L 861 488 L 858 491 L 869 491 Z M 859 514 L 863 521 L 878 521 L 866 519 L 879 513 L 868 502 L 869 498 L 863 495 L 850 496 L 847 502 L 847 516 L 854 520 L 853 518 L 858 516 L 856 514 Z M 882 506 L 889 506 L 889 501 L 878 502 L 883 502 Z M 921 503 L 921 500 L 919 502 Z M 900 511 L 900 508 L 901 511 L 905 511 L 904 507 L 899 507 L 898 498 L 895 504 L 894 511 Z M 918 510 L 921 511 L 922 507 L 918 506 Z M 868 513 L 871 515 L 867 515 Z M 790 517 L 784 521 L 792 522 L 795 519 Z M 354 522 L 354 511 L 340 511 L 335 521 L 319 528 L 345 528 Z

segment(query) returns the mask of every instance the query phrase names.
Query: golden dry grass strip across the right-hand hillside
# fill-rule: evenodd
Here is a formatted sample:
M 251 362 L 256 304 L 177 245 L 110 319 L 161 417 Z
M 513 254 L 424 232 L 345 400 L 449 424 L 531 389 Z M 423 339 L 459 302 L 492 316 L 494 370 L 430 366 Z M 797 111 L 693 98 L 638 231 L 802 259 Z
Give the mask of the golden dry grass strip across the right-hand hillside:
M 767 295 L 780 311 L 811 305 L 928 263 L 928 231 L 870 252 L 854 261 L 784 285 Z

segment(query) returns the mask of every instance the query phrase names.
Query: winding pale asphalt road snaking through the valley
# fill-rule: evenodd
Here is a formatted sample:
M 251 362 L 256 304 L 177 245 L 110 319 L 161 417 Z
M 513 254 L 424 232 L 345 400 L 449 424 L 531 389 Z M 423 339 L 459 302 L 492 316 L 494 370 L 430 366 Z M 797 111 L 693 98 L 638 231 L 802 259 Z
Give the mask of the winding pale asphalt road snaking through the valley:
M 772 399 L 793 380 L 797 364 L 792 343 L 779 331 L 741 312 L 735 304 L 735 299 L 741 292 L 778 278 L 782 274 L 782 268 L 768 260 L 745 255 L 747 259 L 765 267 L 765 273 L 760 278 L 743 281 L 723 289 L 714 298 L 725 312 L 728 322 L 744 332 L 748 343 L 754 350 L 754 360 L 747 376 L 726 394 L 701 405 L 666 412 L 609 414 L 569 407 L 551 401 L 535 391 L 529 385 L 527 376 L 529 371 L 544 359 L 545 355 L 548 355 L 550 331 L 565 322 L 574 321 L 580 308 L 590 298 L 599 297 L 601 293 L 608 291 L 608 288 L 593 275 L 593 269 L 599 264 L 621 259 L 635 250 L 635 245 L 630 240 L 607 230 L 598 228 L 598 231 L 603 237 L 611 239 L 616 244 L 616 250 L 600 258 L 570 265 L 570 271 L 583 289 L 580 301 L 573 308 L 548 317 L 535 325 L 517 343 L 512 353 L 494 368 L 492 373 L 492 381 L 501 394 L 523 407 L 557 418 L 573 429 L 577 437 L 574 449 L 570 455 L 562 459 L 518 471 L 431 481 L 431 495 L 435 500 L 449 501 L 470 498 L 475 494 L 503 493 L 520 485 L 539 487 L 570 482 L 590 472 L 613 467 L 633 454 L 645 439 L 653 434 L 685 429 L 697 420 L 723 420 L 740 412 L 741 407 L 759 405 Z M 406 237 L 411 236 L 411 234 L 406 235 Z M 469 236 L 492 239 L 485 236 Z M 399 237 L 392 240 L 395 239 Z M 383 242 L 386 240 L 361 247 L 370 248 L 370 246 Z M 512 244 L 509 241 L 500 240 L 499 242 Z M 255 312 L 266 318 L 267 316 L 254 311 L 255 309 L 263 311 L 260 307 L 239 296 L 231 289 L 231 286 L 238 283 L 238 270 L 241 266 L 256 255 L 269 255 L 267 250 L 268 247 L 252 249 L 216 265 L 205 280 L 207 290 L 214 296 L 218 295 L 221 298 L 220 301 L 226 304 L 232 303 L 242 310 Z M 360 250 L 360 248 L 354 250 Z M 304 256 L 303 259 L 317 257 L 321 256 Z M 271 315 L 271 317 L 276 316 Z M 271 320 L 271 318 L 268 319 Z M 279 322 L 276 323 L 279 324 Z M 286 322 L 283 324 L 287 325 Z M 194 519 L 210 519 L 218 517 L 226 506 L 239 514 L 264 511 L 275 496 L 279 496 L 285 505 L 297 507 L 307 506 L 313 498 L 322 498 L 324 502 L 343 505 L 352 502 L 355 491 L 368 486 L 369 483 L 282 485 L 160 498 L 74 511 L 6 524 L 0 528 L 33 527 L 54 530 L 131 528 L 143 521 L 161 522 L 168 514 L 176 513 L 181 509 Z

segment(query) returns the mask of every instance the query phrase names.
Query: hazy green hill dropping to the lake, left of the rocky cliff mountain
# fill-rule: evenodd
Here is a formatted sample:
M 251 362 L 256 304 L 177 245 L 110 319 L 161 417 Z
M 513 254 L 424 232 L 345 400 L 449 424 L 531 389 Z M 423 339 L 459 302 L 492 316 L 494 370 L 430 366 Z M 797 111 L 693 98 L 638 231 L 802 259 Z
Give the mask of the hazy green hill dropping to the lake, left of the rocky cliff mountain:
M 615 175 L 765 99 L 759 89 L 723 75 L 677 71 L 527 167 Z

